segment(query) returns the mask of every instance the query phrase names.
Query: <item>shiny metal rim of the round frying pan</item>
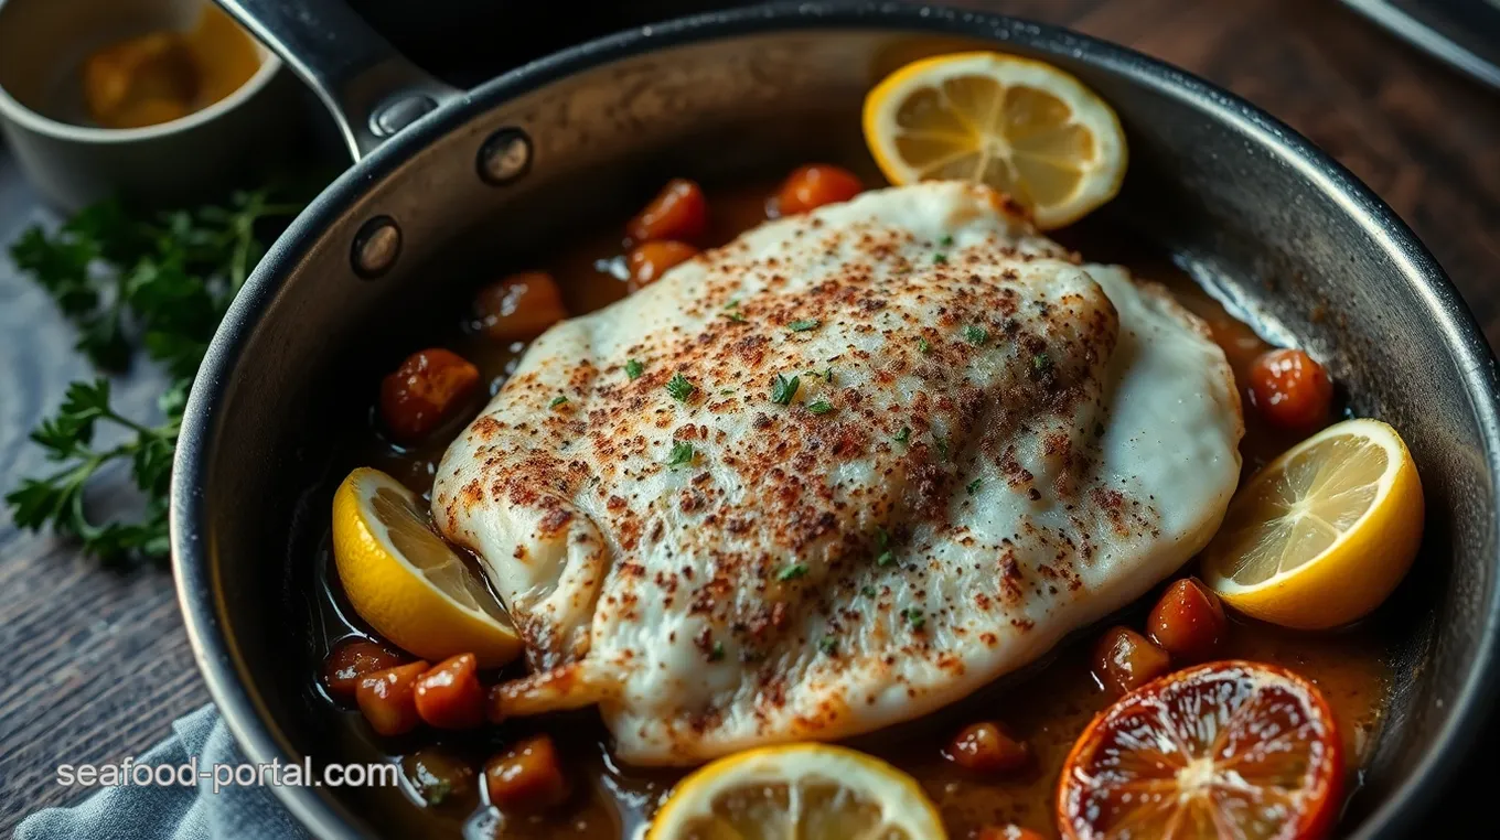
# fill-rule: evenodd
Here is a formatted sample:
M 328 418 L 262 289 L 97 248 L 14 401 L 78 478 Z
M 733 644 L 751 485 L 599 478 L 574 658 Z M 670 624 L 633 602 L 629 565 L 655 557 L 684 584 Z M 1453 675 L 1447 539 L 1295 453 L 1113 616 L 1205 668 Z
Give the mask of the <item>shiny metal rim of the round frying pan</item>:
M 177 598 L 198 670 L 208 686 L 236 741 L 252 762 L 290 760 L 290 746 L 246 681 L 234 644 L 220 621 L 220 590 L 210 558 L 208 500 L 202 488 L 216 442 L 219 404 L 244 344 L 279 291 L 282 278 L 321 240 L 326 231 L 366 192 L 438 138 L 495 108 L 564 76 L 609 62 L 669 46 L 754 34 L 840 30 L 897 30 L 984 38 L 1004 45 L 1024 42 L 1044 52 L 1065 54 L 1101 70 L 1184 100 L 1206 118 L 1228 124 L 1305 177 L 1332 198 L 1395 264 L 1437 321 L 1444 350 L 1456 360 L 1470 408 L 1480 428 L 1491 498 L 1500 498 L 1500 384 L 1496 358 L 1458 290 L 1416 234 L 1370 188 L 1306 138 L 1250 102 L 1216 86 L 1126 46 L 1022 18 L 972 10 L 880 2 L 808 2 L 740 8 L 644 26 L 590 40 L 496 76 L 411 126 L 363 162 L 346 170 L 276 240 L 250 274 L 214 333 L 194 382 L 178 438 L 171 484 L 171 548 Z M 1486 544 L 1497 544 L 1496 525 Z M 1492 558 L 1492 562 L 1500 558 Z M 1484 604 L 1484 630 L 1474 668 L 1462 681 L 1428 754 L 1392 795 L 1376 807 L 1354 840 L 1404 837 L 1449 786 L 1458 765 L 1473 750 L 1488 720 L 1484 700 L 1500 692 L 1500 586 Z M 314 788 L 273 788 L 280 802 L 318 837 L 362 837 L 362 820 Z

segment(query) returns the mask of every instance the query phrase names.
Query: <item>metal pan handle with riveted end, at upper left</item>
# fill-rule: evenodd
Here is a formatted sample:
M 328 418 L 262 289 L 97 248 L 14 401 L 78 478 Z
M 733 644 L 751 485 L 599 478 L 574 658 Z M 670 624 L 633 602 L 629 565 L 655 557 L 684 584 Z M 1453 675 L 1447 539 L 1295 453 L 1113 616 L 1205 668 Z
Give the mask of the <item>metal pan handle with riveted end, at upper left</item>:
M 464 96 L 408 62 L 342 0 L 216 0 L 328 106 L 358 160 Z

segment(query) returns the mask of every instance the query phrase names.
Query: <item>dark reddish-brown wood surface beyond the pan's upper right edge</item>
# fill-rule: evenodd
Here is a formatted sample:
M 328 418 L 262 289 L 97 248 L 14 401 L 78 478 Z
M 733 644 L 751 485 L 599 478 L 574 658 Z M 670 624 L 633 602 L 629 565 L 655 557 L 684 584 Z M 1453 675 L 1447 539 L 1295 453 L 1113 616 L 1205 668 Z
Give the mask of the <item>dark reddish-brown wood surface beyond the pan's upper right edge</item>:
M 1500 340 L 1500 93 L 1334 2 L 957 4 L 1125 44 L 1260 105 L 1384 198 Z

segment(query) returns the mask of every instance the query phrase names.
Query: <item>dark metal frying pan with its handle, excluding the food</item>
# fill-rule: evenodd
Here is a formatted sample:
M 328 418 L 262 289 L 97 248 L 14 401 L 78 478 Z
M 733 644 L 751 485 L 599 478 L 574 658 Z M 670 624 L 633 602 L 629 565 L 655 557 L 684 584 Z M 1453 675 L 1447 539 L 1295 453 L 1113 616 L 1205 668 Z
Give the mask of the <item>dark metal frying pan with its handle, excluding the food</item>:
M 912 4 L 801 3 L 644 27 L 472 92 L 434 81 L 334 0 L 222 0 L 334 111 L 358 162 L 276 242 L 192 392 L 172 549 L 208 687 L 252 760 L 327 754 L 312 723 L 300 582 L 326 528 L 340 429 L 358 423 L 404 315 L 465 266 L 620 218 L 666 174 L 807 159 L 856 126 L 910 58 L 998 48 L 1100 92 L 1130 135 L 1106 210 L 1216 294 L 1330 360 L 1354 410 L 1412 444 L 1426 544 L 1398 604 L 1389 723 L 1346 831 L 1404 837 L 1497 694 L 1496 363 L 1456 291 L 1392 212 L 1306 140 L 1173 68 L 1064 30 Z M 488 262 L 486 262 L 488 261 Z M 1316 312 L 1332 316 L 1316 318 Z M 352 406 L 352 408 L 351 408 Z M 315 834 L 380 836 L 332 789 L 278 788 Z M 394 794 L 392 794 L 394 795 Z

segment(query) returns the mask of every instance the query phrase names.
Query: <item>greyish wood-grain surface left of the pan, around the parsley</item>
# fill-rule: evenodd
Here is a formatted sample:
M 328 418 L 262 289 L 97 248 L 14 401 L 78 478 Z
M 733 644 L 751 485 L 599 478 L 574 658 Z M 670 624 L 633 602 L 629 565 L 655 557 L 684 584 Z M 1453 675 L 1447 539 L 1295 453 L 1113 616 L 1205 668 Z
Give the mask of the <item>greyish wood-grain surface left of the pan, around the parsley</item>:
M 33 222 L 15 162 L 0 152 L 0 242 Z M 48 468 L 26 434 L 88 368 L 51 300 L 0 258 L 0 490 Z M 160 378 L 117 382 L 120 405 L 153 410 Z M 120 478 L 124 478 L 123 476 Z M 111 488 L 98 494 L 111 501 Z M 118 495 L 118 494 L 116 494 Z M 58 764 L 112 762 L 165 738 L 207 702 L 165 567 L 110 572 L 69 544 L 21 534 L 0 514 L 0 836 L 44 806 L 87 790 L 56 783 Z

